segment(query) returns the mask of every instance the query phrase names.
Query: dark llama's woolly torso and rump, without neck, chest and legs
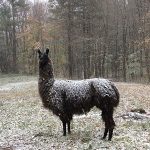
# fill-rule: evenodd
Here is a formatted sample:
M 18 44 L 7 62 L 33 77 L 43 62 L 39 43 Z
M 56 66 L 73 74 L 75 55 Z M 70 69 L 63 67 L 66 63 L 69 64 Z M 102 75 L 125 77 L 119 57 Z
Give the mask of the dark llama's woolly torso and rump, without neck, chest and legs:
M 65 93 L 65 109 L 73 114 L 87 113 L 93 106 L 100 108 L 106 97 L 112 107 L 119 103 L 115 86 L 106 79 L 55 80 L 53 88 L 59 93 L 57 98 Z

